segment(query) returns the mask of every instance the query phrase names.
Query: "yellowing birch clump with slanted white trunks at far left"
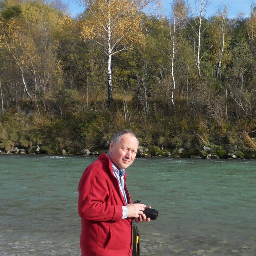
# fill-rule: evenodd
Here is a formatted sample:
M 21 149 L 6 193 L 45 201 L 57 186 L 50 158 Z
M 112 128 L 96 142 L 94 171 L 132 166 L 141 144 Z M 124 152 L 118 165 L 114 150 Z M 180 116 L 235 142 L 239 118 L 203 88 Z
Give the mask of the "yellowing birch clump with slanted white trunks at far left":
M 5 5 L 2 14 L 12 3 L 6 1 Z M 55 54 L 57 40 L 52 34 L 55 30 L 61 31 L 64 18 L 59 11 L 40 2 L 25 2 L 17 6 L 19 14 L 3 20 L 1 46 L 9 52 L 19 70 L 31 105 L 39 96 L 45 107 L 47 90 L 51 89 L 51 84 L 57 86 L 61 81 L 61 66 Z

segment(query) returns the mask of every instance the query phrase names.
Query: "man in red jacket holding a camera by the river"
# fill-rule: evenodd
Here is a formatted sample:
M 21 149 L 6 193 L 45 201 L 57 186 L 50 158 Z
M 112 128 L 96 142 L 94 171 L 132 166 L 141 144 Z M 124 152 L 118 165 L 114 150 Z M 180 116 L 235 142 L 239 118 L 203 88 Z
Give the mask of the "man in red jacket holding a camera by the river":
M 132 255 L 132 220 L 150 221 L 144 204 L 132 204 L 125 168 L 135 159 L 138 139 L 131 130 L 114 133 L 107 154 L 84 171 L 78 186 L 82 256 Z

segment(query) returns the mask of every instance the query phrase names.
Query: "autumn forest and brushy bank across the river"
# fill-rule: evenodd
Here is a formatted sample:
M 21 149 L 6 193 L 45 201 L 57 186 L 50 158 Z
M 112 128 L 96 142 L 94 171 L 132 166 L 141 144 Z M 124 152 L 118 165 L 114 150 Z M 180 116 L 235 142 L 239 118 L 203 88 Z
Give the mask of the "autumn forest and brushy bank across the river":
M 131 129 L 150 156 L 255 159 L 256 5 L 208 17 L 191 1 L 164 16 L 144 12 L 152 0 L 83 0 L 72 18 L 1 0 L 0 152 L 102 152 Z

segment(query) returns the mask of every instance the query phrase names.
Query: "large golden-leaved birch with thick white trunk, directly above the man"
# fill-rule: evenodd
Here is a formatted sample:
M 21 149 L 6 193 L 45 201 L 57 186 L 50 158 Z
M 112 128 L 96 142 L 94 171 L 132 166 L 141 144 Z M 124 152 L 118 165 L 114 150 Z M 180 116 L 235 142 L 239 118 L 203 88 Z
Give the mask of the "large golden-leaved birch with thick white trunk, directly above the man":
M 112 57 L 134 44 L 143 44 L 140 11 L 152 0 L 83 0 L 88 14 L 82 37 L 93 40 L 107 57 L 107 98 L 113 101 Z

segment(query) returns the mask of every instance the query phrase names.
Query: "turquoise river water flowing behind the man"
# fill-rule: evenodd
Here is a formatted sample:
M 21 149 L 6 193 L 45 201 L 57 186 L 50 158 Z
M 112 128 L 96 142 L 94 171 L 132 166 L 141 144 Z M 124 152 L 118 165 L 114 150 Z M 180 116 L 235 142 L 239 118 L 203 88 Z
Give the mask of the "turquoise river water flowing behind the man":
M 0 255 L 80 255 L 78 182 L 93 157 L 0 156 Z M 256 161 L 136 159 L 141 256 L 256 255 Z

